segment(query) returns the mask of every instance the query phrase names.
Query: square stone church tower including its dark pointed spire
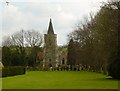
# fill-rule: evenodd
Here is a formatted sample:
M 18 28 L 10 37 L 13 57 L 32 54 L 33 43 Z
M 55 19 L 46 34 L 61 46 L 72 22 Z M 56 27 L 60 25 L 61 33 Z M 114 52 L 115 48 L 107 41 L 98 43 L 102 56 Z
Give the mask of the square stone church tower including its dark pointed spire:
M 57 66 L 57 35 L 54 33 L 52 20 L 50 19 L 48 32 L 44 34 L 44 60 L 43 68 Z

